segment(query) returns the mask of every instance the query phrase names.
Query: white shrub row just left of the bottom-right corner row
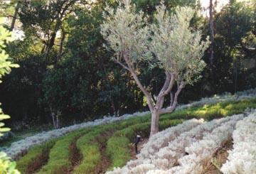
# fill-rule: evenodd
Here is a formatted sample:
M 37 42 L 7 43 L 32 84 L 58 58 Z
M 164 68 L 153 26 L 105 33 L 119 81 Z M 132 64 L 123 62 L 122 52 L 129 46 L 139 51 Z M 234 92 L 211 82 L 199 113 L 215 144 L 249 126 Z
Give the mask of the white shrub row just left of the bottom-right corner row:
M 178 166 L 171 168 L 171 173 L 204 173 L 206 163 L 210 161 L 215 151 L 221 147 L 223 142 L 232 137 L 235 124 L 242 119 L 242 114 L 233 116 L 233 119 L 222 124 L 210 134 L 203 137 L 201 141 L 192 143 L 185 148 L 187 156 L 178 159 Z

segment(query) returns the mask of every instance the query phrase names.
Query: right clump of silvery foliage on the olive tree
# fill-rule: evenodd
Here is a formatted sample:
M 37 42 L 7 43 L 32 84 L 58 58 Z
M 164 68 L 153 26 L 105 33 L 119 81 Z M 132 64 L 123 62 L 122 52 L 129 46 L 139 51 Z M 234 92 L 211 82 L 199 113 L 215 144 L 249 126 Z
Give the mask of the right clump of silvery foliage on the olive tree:
M 201 59 L 210 44 L 208 38 L 201 40 L 201 31 L 190 27 L 195 11 L 191 7 L 178 7 L 176 13 L 168 15 L 161 3 L 156 9 L 156 23 L 150 26 L 149 48 L 166 72 L 176 75 L 176 82 L 193 85 L 206 66 Z

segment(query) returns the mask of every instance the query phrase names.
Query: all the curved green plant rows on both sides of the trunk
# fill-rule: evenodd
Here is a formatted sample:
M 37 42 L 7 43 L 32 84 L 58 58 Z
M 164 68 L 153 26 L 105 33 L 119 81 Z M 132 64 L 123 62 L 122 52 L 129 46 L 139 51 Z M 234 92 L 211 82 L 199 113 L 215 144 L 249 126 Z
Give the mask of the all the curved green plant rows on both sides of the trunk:
M 211 120 L 239 114 L 247 108 L 256 108 L 255 98 L 191 107 L 172 114 L 164 114 L 161 116 L 159 126 L 160 129 L 166 129 L 181 123 L 183 119 L 203 118 Z M 149 128 L 150 116 L 146 115 L 74 131 L 63 138 L 31 148 L 25 156 L 18 160 L 18 169 L 21 170 L 21 173 L 32 173 L 31 171 L 37 172 L 38 170 L 39 173 L 70 173 L 70 168 L 73 168 L 73 173 L 93 173 L 99 168 L 102 155 L 106 155 L 110 158 L 110 165 L 107 166 L 107 170 L 111 170 L 129 161 L 131 158 L 129 143 L 134 141 L 137 134 L 148 137 Z M 110 134 L 101 136 L 105 132 L 110 132 Z M 97 137 L 105 137 L 104 154 L 100 151 L 102 142 L 97 141 Z M 72 164 L 70 152 L 70 144 L 72 143 L 75 143 L 82 157 L 80 163 L 75 166 Z M 47 161 L 48 163 L 46 163 Z

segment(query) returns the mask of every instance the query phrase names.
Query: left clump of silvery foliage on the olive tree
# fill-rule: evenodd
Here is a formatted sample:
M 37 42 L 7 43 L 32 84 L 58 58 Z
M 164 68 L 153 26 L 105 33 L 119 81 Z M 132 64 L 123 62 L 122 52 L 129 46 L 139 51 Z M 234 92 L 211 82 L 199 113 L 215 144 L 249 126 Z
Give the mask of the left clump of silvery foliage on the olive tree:
M 107 6 L 103 13 L 105 21 L 101 25 L 101 34 L 107 40 L 105 48 L 114 51 L 113 59 L 134 65 L 148 52 L 149 26 L 147 16 L 142 11 L 137 13 L 130 0 L 119 1 L 119 8 Z M 128 67 L 127 67 L 128 68 Z

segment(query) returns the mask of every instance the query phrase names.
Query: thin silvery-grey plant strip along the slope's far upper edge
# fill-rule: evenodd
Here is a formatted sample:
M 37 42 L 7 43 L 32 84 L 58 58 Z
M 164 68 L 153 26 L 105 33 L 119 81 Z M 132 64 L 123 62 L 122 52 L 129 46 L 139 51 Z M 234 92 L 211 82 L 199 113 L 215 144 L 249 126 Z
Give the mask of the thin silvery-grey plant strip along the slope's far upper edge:
M 235 95 L 224 94 L 221 96 L 214 96 L 211 98 L 203 98 L 198 102 L 193 102 L 191 104 L 183 104 L 177 107 L 176 111 L 191 107 L 202 106 L 203 104 L 216 104 L 218 102 L 228 102 L 228 101 L 238 101 L 240 99 L 250 99 L 256 97 L 256 88 L 249 89 L 244 92 L 238 92 Z M 41 144 L 46 141 L 50 141 L 51 139 L 58 138 L 60 136 L 64 136 L 65 134 L 70 133 L 71 131 L 75 131 L 78 129 L 84 129 L 90 126 L 97 126 L 101 124 L 107 124 L 114 121 L 120 121 L 124 119 L 129 119 L 137 116 L 144 116 L 149 114 L 149 112 L 137 112 L 134 114 L 124 114 L 123 116 L 114 117 L 114 116 L 105 116 L 103 119 L 97 119 L 95 121 L 88 121 L 82 124 L 75 124 L 73 126 L 64 127 L 61 129 L 55 129 L 53 131 L 46 131 L 40 134 L 36 134 L 34 136 L 29 136 L 24 138 L 21 141 L 16 141 L 11 143 L 9 148 L 6 148 L 4 151 L 11 157 L 17 158 L 19 155 L 28 151 L 28 148 L 35 146 L 36 144 Z

